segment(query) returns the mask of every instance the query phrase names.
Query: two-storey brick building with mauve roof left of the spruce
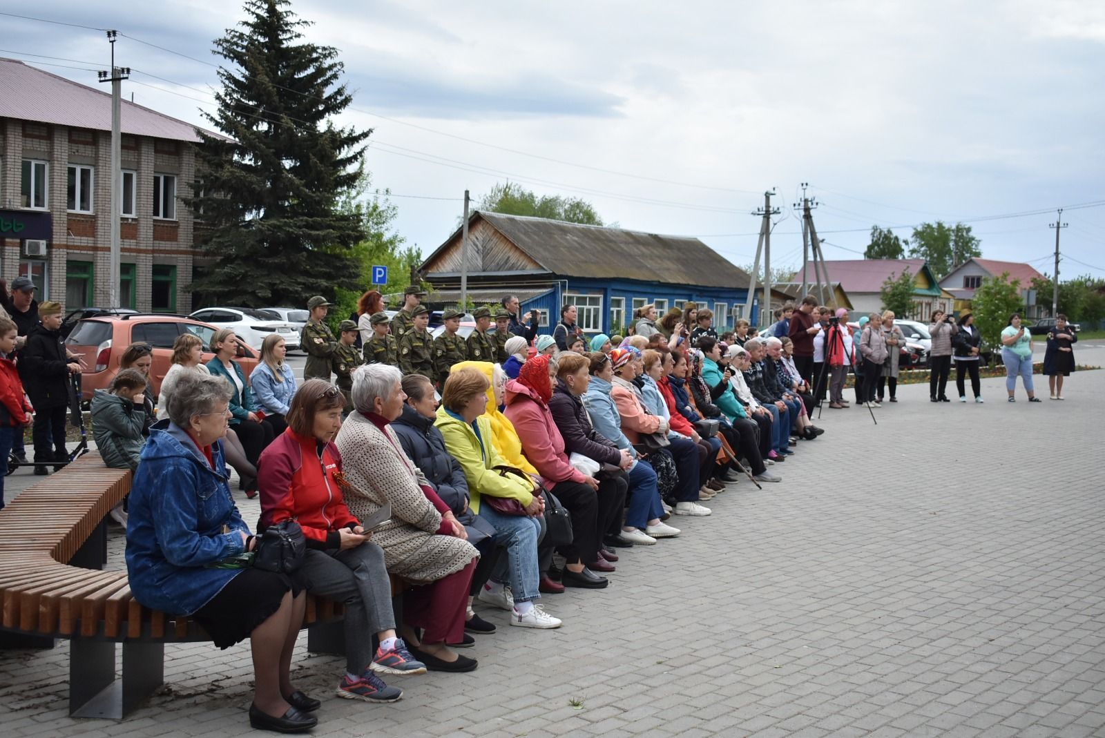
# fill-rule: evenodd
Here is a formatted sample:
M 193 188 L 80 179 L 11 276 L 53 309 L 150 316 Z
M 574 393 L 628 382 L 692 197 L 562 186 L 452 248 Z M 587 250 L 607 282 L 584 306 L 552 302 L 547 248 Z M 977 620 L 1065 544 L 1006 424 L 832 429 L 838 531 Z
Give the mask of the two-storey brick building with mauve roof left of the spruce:
M 107 307 L 112 97 L 0 59 L 0 275 L 39 299 Z M 194 180 L 189 123 L 123 102 L 118 307 L 188 313 Z

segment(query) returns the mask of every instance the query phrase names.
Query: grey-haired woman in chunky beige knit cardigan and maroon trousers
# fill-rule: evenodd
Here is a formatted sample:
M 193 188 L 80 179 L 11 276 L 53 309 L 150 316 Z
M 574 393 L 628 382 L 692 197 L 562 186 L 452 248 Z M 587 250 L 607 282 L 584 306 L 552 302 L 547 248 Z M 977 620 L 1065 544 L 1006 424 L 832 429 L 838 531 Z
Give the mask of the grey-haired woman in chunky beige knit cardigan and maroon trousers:
M 391 520 L 373 538 L 388 571 L 417 586 L 403 597 L 403 633 L 411 653 L 433 671 L 470 672 L 476 661 L 448 644 L 464 642 L 469 588 L 480 552 L 389 426 L 407 400 L 401 380 L 397 368 L 382 363 L 354 371 L 355 412 L 337 434 L 349 482 L 346 500 L 360 519 L 391 506 Z

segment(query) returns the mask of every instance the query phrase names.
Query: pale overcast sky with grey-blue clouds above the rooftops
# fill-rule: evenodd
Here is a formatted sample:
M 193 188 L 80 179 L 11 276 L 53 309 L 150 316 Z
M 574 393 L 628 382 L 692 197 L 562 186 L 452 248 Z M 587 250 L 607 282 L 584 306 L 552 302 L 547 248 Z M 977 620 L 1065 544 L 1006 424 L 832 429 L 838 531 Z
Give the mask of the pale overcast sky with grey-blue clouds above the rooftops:
M 136 70 L 125 95 L 200 123 L 220 61 L 211 41 L 241 20 L 238 1 L 116 8 L 43 0 L 8 11 L 116 28 L 207 62 L 128 38 L 116 50 Z M 424 255 L 455 225 L 465 189 L 478 199 L 507 178 L 582 197 L 623 228 L 699 235 L 737 264 L 755 255 L 749 213 L 771 188 L 782 209 L 772 265 L 801 262 L 791 205 L 803 181 L 821 203 L 827 259 L 860 257 L 873 223 L 908 235 L 913 223 L 964 220 L 983 256 L 1050 273 L 1054 212 L 980 219 L 1105 202 L 1099 0 L 293 9 L 315 22 L 313 41 L 340 50 L 358 108 L 345 123 L 375 128 L 373 184 L 397 196 L 396 229 Z M 101 32 L 3 25 L 4 56 L 107 66 Z M 83 68 L 42 68 L 96 84 Z M 1105 207 L 1069 209 L 1063 221 L 1062 275 L 1105 276 Z

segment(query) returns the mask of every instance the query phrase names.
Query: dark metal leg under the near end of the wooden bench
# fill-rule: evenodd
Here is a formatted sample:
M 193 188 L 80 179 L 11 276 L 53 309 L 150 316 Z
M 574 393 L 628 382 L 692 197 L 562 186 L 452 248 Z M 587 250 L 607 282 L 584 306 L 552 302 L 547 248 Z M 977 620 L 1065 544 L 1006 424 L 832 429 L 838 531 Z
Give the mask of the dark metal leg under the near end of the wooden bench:
M 70 643 L 70 715 L 123 719 L 165 683 L 164 643 L 124 643 L 123 676 L 115 678 L 115 643 Z

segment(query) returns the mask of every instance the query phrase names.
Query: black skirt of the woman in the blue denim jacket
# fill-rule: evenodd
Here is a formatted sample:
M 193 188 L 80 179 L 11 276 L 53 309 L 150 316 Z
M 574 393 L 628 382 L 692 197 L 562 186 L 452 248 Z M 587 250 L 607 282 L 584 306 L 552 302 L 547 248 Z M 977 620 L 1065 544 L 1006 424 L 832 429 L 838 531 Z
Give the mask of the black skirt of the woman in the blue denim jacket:
M 306 589 L 298 574 L 280 574 L 261 569 L 242 569 L 211 598 L 207 604 L 192 614 L 214 644 L 220 649 L 250 637 L 261 623 L 280 610 L 281 601 L 288 591 L 297 597 Z

